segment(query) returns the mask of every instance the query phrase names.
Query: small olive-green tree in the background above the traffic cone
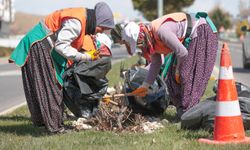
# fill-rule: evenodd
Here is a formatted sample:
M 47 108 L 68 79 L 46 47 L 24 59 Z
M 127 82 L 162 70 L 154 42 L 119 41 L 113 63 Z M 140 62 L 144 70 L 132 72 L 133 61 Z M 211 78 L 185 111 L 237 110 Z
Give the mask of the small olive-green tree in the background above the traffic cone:
M 231 16 L 228 12 L 223 11 L 220 7 L 215 7 L 210 13 L 209 16 L 213 20 L 213 23 L 217 29 L 224 27 L 228 29 L 232 26 Z

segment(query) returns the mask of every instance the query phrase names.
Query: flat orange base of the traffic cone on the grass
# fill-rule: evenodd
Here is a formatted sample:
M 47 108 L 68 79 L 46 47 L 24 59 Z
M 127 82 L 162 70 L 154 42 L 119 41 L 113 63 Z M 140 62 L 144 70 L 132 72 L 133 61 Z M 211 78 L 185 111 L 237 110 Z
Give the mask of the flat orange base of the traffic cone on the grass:
M 231 140 L 231 141 L 218 141 L 210 139 L 199 139 L 198 142 L 206 144 L 248 144 L 250 143 L 250 137 L 245 137 L 243 140 Z

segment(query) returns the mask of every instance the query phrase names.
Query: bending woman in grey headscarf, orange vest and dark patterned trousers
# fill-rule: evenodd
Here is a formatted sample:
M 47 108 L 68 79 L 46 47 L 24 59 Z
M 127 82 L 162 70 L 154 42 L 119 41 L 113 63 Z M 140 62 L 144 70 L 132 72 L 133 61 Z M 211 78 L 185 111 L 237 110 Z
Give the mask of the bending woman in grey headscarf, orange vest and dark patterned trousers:
M 10 61 L 22 69 L 24 92 L 35 126 L 45 126 L 53 133 L 64 131 L 61 86 L 67 60 L 91 60 L 87 53 L 78 52 L 84 35 L 113 27 L 111 9 L 100 2 L 94 9 L 58 10 L 21 40 Z

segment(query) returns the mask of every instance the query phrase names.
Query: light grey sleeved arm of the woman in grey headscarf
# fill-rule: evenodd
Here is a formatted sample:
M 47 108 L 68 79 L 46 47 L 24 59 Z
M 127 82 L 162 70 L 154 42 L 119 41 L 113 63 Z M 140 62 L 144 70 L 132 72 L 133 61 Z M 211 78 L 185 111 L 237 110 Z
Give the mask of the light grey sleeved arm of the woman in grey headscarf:
M 65 58 L 80 61 L 88 59 L 86 54 L 82 54 L 71 46 L 71 43 L 78 38 L 81 32 L 81 23 L 77 19 L 67 19 L 62 23 L 62 28 L 58 32 L 55 42 L 55 50 Z

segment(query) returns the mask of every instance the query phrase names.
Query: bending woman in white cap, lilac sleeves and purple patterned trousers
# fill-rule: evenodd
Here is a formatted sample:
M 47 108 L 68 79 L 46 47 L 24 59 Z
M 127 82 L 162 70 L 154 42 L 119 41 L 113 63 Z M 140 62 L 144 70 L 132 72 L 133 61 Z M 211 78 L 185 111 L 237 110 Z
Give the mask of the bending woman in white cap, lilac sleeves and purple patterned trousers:
M 177 117 L 199 102 L 212 73 L 218 48 L 217 30 L 206 13 L 172 13 L 150 24 L 131 22 L 121 30 L 121 40 L 130 54 L 137 46 L 146 59 L 151 59 L 147 78 L 133 91 L 135 95 L 147 94 L 149 85 L 160 71 L 161 54 L 166 56 L 173 52 L 177 64 L 172 61 L 166 84 L 177 108 Z

